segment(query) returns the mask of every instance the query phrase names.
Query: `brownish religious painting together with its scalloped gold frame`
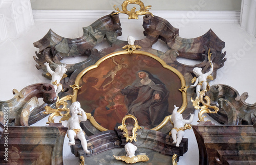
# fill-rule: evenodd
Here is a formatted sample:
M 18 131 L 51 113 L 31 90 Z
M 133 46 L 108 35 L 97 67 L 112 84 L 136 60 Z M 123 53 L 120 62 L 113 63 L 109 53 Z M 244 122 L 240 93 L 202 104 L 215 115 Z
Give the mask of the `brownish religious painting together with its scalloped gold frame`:
M 134 87 L 136 91 L 141 90 L 137 89 L 135 84 L 141 82 L 138 73 L 144 71 L 147 77 L 151 77 L 153 86 L 154 84 L 156 86 L 153 89 L 150 88 L 151 92 L 157 93 L 157 90 L 162 92 L 160 99 L 155 94 L 154 96 L 152 93 L 148 94 L 152 97 L 151 103 L 143 101 L 144 93 L 136 96 L 126 95 L 123 91 L 125 89 L 135 91 Z M 92 114 L 89 120 L 100 131 L 113 130 L 121 123 L 119 120 L 125 114 L 135 114 L 145 129 L 159 130 L 168 123 L 174 105 L 180 107 L 178 110 L 180 113 L 187 106 L 186 90 L 181 90 L 186 86 L 183 75 L 159 57 L 143 51 L 134 51 L 132 54 L 127 51 L 118 51 L 106 55 L 94 65 L 84 68 L 76 77 L 74 85 L 80 88 L 74 88 L 72 102 L 79 101 L 81 108 L 86 113 Z M 140 91 L 138 92 L 141 94 Z M 140 97 L 136 98 L 138 96 Z M 132 98 L 130 102 L 129 97 Z M 142 99 L 142 101 L 139 104 L 134 103 L 136 99 Z M 139 109 L 136 109 L 137 105 L 140 106 Z M 147 113 L 148 107 L 150 107 L 148 113 L 152 114 L 151 116 L 142 114 Z M 149 122 L 150 120 L 152 122 Z M 155 122 L 155 125 L 148 125 L 145 121 Z

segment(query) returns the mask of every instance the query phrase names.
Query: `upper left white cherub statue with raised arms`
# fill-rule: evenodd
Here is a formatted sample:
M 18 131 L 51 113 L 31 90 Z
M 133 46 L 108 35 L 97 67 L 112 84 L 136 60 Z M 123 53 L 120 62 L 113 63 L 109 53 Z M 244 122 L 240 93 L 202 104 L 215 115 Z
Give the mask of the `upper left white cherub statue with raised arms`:
M 60 84 L 60 80 L 63 78 L 63 75 L 67 72 L 66 64 L 58 65 L 55 69 L 55 72 L 50 68 L 49 62 L 45 63 L 46 69 L 52 76 L 51 84 L 53 85 L 56 94 L 62 90 L 62 84 Z

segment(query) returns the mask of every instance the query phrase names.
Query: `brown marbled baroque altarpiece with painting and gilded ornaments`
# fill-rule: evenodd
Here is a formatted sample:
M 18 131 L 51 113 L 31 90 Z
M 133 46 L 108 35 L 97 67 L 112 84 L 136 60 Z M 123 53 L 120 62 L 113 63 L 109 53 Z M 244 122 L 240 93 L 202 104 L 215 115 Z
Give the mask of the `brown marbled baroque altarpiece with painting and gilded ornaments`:
M 140 9 L 136 11 L 134 7 L 128 11 L 127 5 L 139 5 Z M 124 1 L 122 10 L 114 8 L 116 11 L 84 27 L 79 38 L 64 38 L 50 29 L 34 42 L 39 49 L 34 60 L 42 76 L 53 77 L 47 63 L 51 70 L 65 66 L 66 72 L 58 83 L 31 84 L 19 92 L 13 90 L 14 98 L 1 102 L 1 153 L 5 152 L 7 133 L 9 154 L 19 153 L 9 157 L 9 162 L 63 164 L 62 146 L 68 128 L 62 122 L 70 119 L 70 105 L 78 101 L 87 116 L 80 127 L 90 152 L 84 152 L 80 140 L 75 139 L 71 151 L 80 158 L 80 164 L 97 164 L 98 157 L 105 164 L 132 163 L 130 159 L 124 158 L 123 162 L 116 158 L 125 155 L 124 146 L 128 142 L 137 147 L 136 154 L 146 155 L 146 160 L 140 163 L 179 163 L 179 157 L 188 150 L 188 139 L 182 138 L 179 145 L 173 143 L 170 132 L 174 129 L 174 106 L 179 107 L 178 113 L 184 119 L 200 109 L 198 125 L 180 129 L 194 130 L 199 164 L 255 163 L 255 105 L 245 102 L 246 93 L 240 96 L 228 85 L 209 86 L 226 61 L 226 52 L 222 52 L 225 42 L 211 29 L 197 38 L 182 38 L 179 29 L 149 12 L 151 6 L 138 0 Z M 129 19 L 143 16 L 144 39 L 117 38 L 122 35 L 119 14 L 123 13 Z M 166 52 L 152 48 L 158 40 L 167 46 Z M 103 41 L 110 46 L 97 50 L 95 46 Z M 75 64 L 61 62 L 79 56 L 87 59 Z M 178 62 L 178 57 L 201 62 L 186 65 Z M 207 88 L 200 92 L 192 87 L 199 79 L 193 71 L 195 67 L 202 74 L 212 69 L 205 80 Z M 147 75 L 151 82 L 142 81 L 139 73 Z M 138 85 L 141 83 L 147 88 Z M 204 86 L 204 82 L 200 83 Z M 61 86 L 61 91 L 56 93 L 54 85 Z M 38 105 L 37 98 L 43 98 L 45 103 Z M 204 121 L 204 113 L 221 125 Z M 48 126 L 30 126 L 49 114 Z M 8 164 L 2 156 L 1 164 Z

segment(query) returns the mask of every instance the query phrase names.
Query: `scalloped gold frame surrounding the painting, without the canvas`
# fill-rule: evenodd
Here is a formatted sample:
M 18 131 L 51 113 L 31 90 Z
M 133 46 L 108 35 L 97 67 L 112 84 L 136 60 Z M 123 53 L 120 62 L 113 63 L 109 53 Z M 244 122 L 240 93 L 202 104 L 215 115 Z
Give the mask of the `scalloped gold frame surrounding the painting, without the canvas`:
M 80 83 L 83 81 L 83 79 L 82 79 L 83 76 L 86 75 L 86 74 L 90 75 L 90 74 L 92 73 L 93 69 L 98 68 L 99 65 L 100 65 L 102 62 L 104 62 L 105 60 L 112 60 L 113 58 L 116 58 L 116 59 L 117 59 L 117 58 L 119 58 L 119 57 L 121 57 L 121 56 L 122 56 L 122 57 L 127 57 L 127 56 L 132 56 L 132 55 L 137 55 L 137 56 L 141 56 L 141 57 L 145 57 L 145 58 L 150 58 L 150 59 L 152 58 L 154 61 L 156 60 L 157 62 L 159 62 L 160 64 L 158 64 L 158 65 L 161 65 L 164 70 L 167 69 L 168 72 L 171 71 L 173 75 L 176 75 L 175 77 L 177 78 L 177 81 L 179 81 L 179 87 L 177 88 L 177 91 L 176 91 L 176 89 L 175 89 L 175 92 L 179 92 L 179 93 L 181 92 L 180 98 L 181 98 L 181 100 L 182 100 L 182 101 L 180 101 L 181 106 L 180 106 L 180 109 L 178 110 L 178 112 L 182 113 L 182 112 L 185 110 L 186 106 L 187 106 L 186 90 L 184 90 L 184 88 L 185 88 L 185 86 L 186 86 L 186 83 L 185 83 L 185 79 L 184 79 L 183 75 L 182 75 L 177 69 L 175 69 L 174 67 L 167 65 L 167 64 L 166 64 L 162 59 L 160 59 L 159 57 L 157 57 L 157 56 L 155 56 L 155 55 L 153 55 L 153 54 L 151 54 L 151 53 L 148 53 L 148 52 L 143 52 L 143 51 L 137 51 L 137 50 L 135 50 L 135 51 L 133 51 L 132 54 L 130 54 L 130 53 L 128 53 L 127 51 L 118 51 L 118 52 L 114 52 L 114 53 L 111 53 L 111 54 L 109 54 L 109 55 L 106 55 L 106 56 L 102 57 L 101 59 L 99 59 L 94 65 L 91 65 L 91 66 L 89 66 L 89 67 L 87 67 L 87 68 L 84 68 L 84 69 L 82 70 L 82 72 L 80 72 L 80 73 L 78 74 L 78 76 L 76 77 L 76 80 L 75 80 L 75 84 L 74 84 L 74 85 L 81 87 Z M 126 61 L 123 61 L 123 62 L 125 63 Z M 126 66 L 126 67 L 127 67 L 127 66 Z M 151 68 L 151 69 L 154 69 L 154 68 Z M 167 72 L 167 71 L 166 71 L 166 72 Z M 97 76 L 97 74 L 95 74 L 95 75 Z M 166 77 L 166 76 L 168 76 L 168 75 L 164 75 L 164 76 Z M 86 76 L 85 76 L 85 77 L 86 77 Z M 183 90 L 182 90 L 182 89 L 183 89 Z M 77 96 L 78 96 L 78 91 L 79 91 L 79 90 L 80 90 L 79 92 L 82 91 L 81 88 L 74 88 L 73 90 L 74 90 L 74 91 L 73 91 L 72 102 L 79 101 L 79 100 L 77 100 Z M 86 92 L 84 92 L 84 93 L 86 93 Z M 85 96 L 86 96 L 86 95 L 85 95 Z M 175 97 L 175 96 L 174 96 L 174 97 Z M 82 105 L 82 104 L 81 104 L 81 105 Z M 169 108 L 172 108 L 172 107 L 169 107 Z M 86 110 L 85 110 L 85 111 L 86 111 Z M 88 112 L 87 112 L 87 113 L 88 113 Z M 170 117 L 170 115 L 165 116 L 164 119 L 163 119 L 163 121 L 162 121 L 159 125 L 157 125 L 156 127 L 152 128 L 152 130 L 160 130 L 161 128 L 163 128 L 163 127 L 168 123 L 169 117 Z M 100 130 L 100 131 L 106 131 L 106 130 L 108 130 L 108 129 L 102 127 L 100 124 L 98 124 L 98 123 L 96 122 L 96 120 L 94 119 L 93 115 L 92 115 L 92 117 L 90 117 L 89 120 L 90 120 L 91 124 L 92 124 L 95 128 L 97 128 L 98 130 Z

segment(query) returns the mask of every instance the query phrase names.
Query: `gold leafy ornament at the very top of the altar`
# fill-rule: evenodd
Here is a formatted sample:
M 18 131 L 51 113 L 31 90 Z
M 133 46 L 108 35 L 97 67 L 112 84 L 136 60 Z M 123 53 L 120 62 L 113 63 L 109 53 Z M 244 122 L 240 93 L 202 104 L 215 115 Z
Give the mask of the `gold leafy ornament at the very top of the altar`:
M 128 11 L 127 6 L 129 4 L 139 5 L 140 10 L 135 11 L 136 7 L 133 7 L 131 11 Z M 147 9 L 151 9 L 151 5 L 144 6 L 144 4 L 140 0 L 126 0 L 122 3 L 122 11 L 119 8 L 116 8 L 116 5 L 114 5 L 114 9 L 117 10 L 118 12 L 113 14 L 124 13 L 129 15 L 128 19 L 139 19 L 139 15 L 145 15 L 145 14 L 151 14 L 153 16 L 153 14 L 148 12 L 147 10 Z

